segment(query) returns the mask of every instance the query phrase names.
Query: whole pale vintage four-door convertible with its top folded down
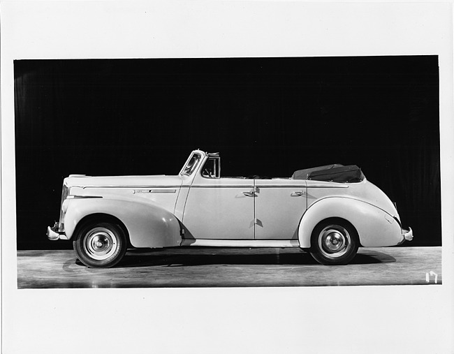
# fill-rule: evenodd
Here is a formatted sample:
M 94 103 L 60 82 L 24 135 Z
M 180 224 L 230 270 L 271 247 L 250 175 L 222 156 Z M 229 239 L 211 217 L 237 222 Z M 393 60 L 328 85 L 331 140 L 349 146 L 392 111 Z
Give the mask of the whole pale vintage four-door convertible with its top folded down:
M 355 165 L 221 177 L 219 154 L 194 150 L 177 176 L 70 175 L 47 237 L 73 240 L 88 267 L 116 265 L 128 246 L 300 247 L 342 265 L 358 246 L 401 244 L 413 232 Z

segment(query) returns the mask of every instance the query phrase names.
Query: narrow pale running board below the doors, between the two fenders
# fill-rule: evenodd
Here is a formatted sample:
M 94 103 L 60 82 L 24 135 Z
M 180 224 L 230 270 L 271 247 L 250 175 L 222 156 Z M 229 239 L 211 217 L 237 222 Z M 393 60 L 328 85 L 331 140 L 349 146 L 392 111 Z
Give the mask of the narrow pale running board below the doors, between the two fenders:
M 182 246 L 200 247 L 299 247 L 298 239 L 183 239 Z

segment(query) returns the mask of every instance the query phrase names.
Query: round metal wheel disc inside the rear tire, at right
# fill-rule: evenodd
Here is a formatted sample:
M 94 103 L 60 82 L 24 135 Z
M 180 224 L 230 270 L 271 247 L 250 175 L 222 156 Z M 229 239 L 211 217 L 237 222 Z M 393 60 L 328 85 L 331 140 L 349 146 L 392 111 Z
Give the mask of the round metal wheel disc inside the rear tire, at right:
M 351 238 L 349 232 L 338 225 L 326 226 L 318 236 L 321 253 L 328 257 L 340 257 L 349 251 Z

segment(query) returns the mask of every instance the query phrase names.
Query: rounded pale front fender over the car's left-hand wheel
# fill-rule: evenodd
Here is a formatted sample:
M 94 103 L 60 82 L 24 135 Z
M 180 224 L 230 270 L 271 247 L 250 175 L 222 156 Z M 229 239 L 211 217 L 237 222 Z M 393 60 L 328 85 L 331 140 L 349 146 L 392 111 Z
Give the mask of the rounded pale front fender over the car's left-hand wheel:
M 114 198 L 68 200 L 64 217 L 65 233 L 73 236 L 78 223 L 91 214 L 110 214 L 124 223 L 134 247 L 180 246 L 180 221 L 166 209 L 149 202 L 132 202 Z

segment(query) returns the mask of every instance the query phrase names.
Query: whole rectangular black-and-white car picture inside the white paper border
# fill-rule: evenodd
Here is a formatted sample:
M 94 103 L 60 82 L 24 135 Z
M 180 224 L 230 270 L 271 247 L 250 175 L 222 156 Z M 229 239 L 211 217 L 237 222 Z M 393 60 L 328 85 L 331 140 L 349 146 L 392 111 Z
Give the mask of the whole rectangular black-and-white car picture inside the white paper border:
M 441 284 L 438 95 L 437 56 L 15 61 L 18 287 Z

